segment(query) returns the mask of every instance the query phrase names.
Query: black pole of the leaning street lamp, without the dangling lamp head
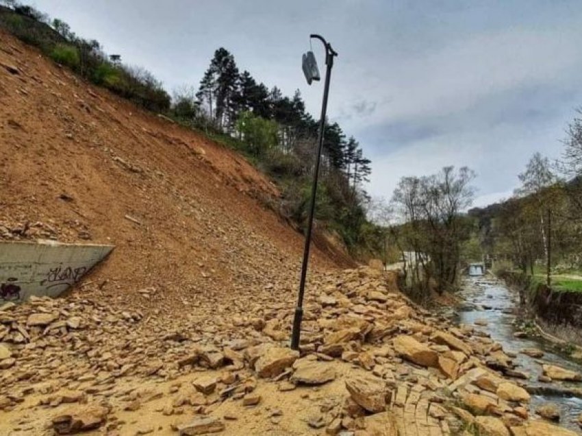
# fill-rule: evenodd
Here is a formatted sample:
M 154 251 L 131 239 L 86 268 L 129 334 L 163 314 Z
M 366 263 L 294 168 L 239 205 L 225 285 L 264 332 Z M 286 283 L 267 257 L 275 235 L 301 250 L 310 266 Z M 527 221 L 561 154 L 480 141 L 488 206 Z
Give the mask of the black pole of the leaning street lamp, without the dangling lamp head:
M 325 128 L 325 112 L 327 112 L 327 95 L 329 94 L 329 79 L 331 77 L 331 67 L 333 66 L 333 56 L 338 56 L 336 51 L 333 51 L 331 45 L 319 35 L 310 35 L 310 38 L 317 38 L 321 40 L 325 46 L 325 64 L 327 69 L 325 71 L 325 86 L 323 88 L 323 102 L 321 105 L 321 119 L 319 121 L 319 145 L 317 149 L 317 157 L 315 162 L 315 170 L 312 185 L 312 196 L 309 204 L 309 218 L 307 219 L 307 234 L 305 235 L 305 247 L 303 247 L 303 264 L 301 265 L 301 280 L 299 280 L 299 297 L 297 298 L 297 306 L 295 308 L 295 315 L 293 318 L 293 332 L 291 336 L 291 348 L 299 350 L 299 337 L 301 336 L 301 320 L 303 319 L 303 295 L 305 293 L 305 278 L 307 276 L 307 263 L 309 262 L 309 247 L 311 246 L 313 217 L 315 212 L 315 197 L 317 193 L 317 181 L 319 178 L 319 166 L 321 162 L 321 151 L 323 149 L 323 130 Z

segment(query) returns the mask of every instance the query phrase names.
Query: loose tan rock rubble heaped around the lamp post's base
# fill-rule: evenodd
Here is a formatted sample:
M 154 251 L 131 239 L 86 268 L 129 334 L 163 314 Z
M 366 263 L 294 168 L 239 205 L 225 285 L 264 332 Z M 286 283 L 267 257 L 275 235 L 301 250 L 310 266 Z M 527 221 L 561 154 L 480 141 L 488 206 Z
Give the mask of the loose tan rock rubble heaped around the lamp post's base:
M 260 407 L 266 385 L 298 402 L 309 398 L 298 391 L 333 385 L 340 393 L 310 411 L 305 428 L 409 434 L 412 420 L 419 435 L 451 433 L 461 422 L 488 434 L 524 428 L 529 435 L 529 393 L 506 378 L 516 370 L 501 346 L 471 326 L 431 316 L 394 280 L 366 267 L 314 274 L 299 351 L 288 348 L 294 295 L 275 287 L 175 317 L 116 311 L 78 296 L 5 304 L 0 409 L 55 409 L 55 433 L 115 432 L 124 426 L 120 413 L 151 413 L 147 404 L 164 400 L 156 413 L 183 417 L 175 431 L 197 435 L 229 431 L 227 421 L 238 416 L 220 416 L 220 408 Z M 269 415 L 268 425 L 282 425 L 281 413 Z M 142 428 L 149 430 L 156 428 Z

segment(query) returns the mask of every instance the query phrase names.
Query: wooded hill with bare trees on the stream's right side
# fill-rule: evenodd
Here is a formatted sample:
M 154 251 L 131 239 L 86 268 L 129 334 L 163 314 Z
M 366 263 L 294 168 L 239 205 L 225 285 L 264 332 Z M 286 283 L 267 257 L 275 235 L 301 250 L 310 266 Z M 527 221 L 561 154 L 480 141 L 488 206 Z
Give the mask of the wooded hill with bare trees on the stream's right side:
M 503 202 L 472 208 L 487 254 L 533 274 L 535 265 L 579 271 L 582 267 L 582 176 L 560 175 L 534 154 L 519 175 L 521 186 Z

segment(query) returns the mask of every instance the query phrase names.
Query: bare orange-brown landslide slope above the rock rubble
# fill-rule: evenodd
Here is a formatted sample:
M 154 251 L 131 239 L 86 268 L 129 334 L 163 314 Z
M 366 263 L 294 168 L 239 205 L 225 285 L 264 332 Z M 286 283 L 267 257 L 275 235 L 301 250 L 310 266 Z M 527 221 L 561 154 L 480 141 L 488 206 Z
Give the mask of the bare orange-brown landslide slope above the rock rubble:
M 277 195 L 238 154 L 0 32 L 0 239 L 114 244 L 91 298 L 169 311 L 294 288 L 303 238 L 264 206 Z

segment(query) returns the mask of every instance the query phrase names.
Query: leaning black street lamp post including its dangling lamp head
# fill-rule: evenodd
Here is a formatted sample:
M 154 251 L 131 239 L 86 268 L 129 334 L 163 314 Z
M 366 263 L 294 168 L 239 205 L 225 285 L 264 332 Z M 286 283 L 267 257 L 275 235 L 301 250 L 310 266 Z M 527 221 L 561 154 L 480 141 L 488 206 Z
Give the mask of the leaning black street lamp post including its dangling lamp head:
M 299 296 L 297 298 L 297 306 L 295 308 L 295 315 L 293 317 L 293 332 L 291 335 L 291 348 L 299 350 L 299 337 L 301 335 L 301 319 L 303 319 L 303 294 L 305 293 L 305 278 L 307 276 L 307 263 L 309 263 L 309 247 L 312 239 L 313 217 L 315 212 L 315 197 L 317 193 L 317 180 L 319 178 L 319 166 L 321 161 L 321 152 L 323 148 L 323 130 L 325 128 L 325 112 L 327 111 L 327 95 L 329 94 L 329 78 L 331 76 L 331 67 L 333 66 L 333 58 L 338 56 L 338 53 L 331 48 L 322 36 L 312 34 L 309 38 L 316 38 L 323 43 L 325 47 L 325 64 L 327 69 L 325 71 L 325 85 L 323 87 L 323 101 L 321 104 L 321 119 L 319 121 L 319 138 L 317 157 L 315 162 L 315 169 L 313 175 L 312 195 L 309 203 L 309 217 L 307 219 L 307 234 L 305 234 L 305 247 L 303 248 L 303 264 L 301 265 L 301 280 L 299 280 Z M 313 51 L 307 51 L 303 54 L 303 73 L 307 84 L 312 84 L 318 81 L 319 69 Z

